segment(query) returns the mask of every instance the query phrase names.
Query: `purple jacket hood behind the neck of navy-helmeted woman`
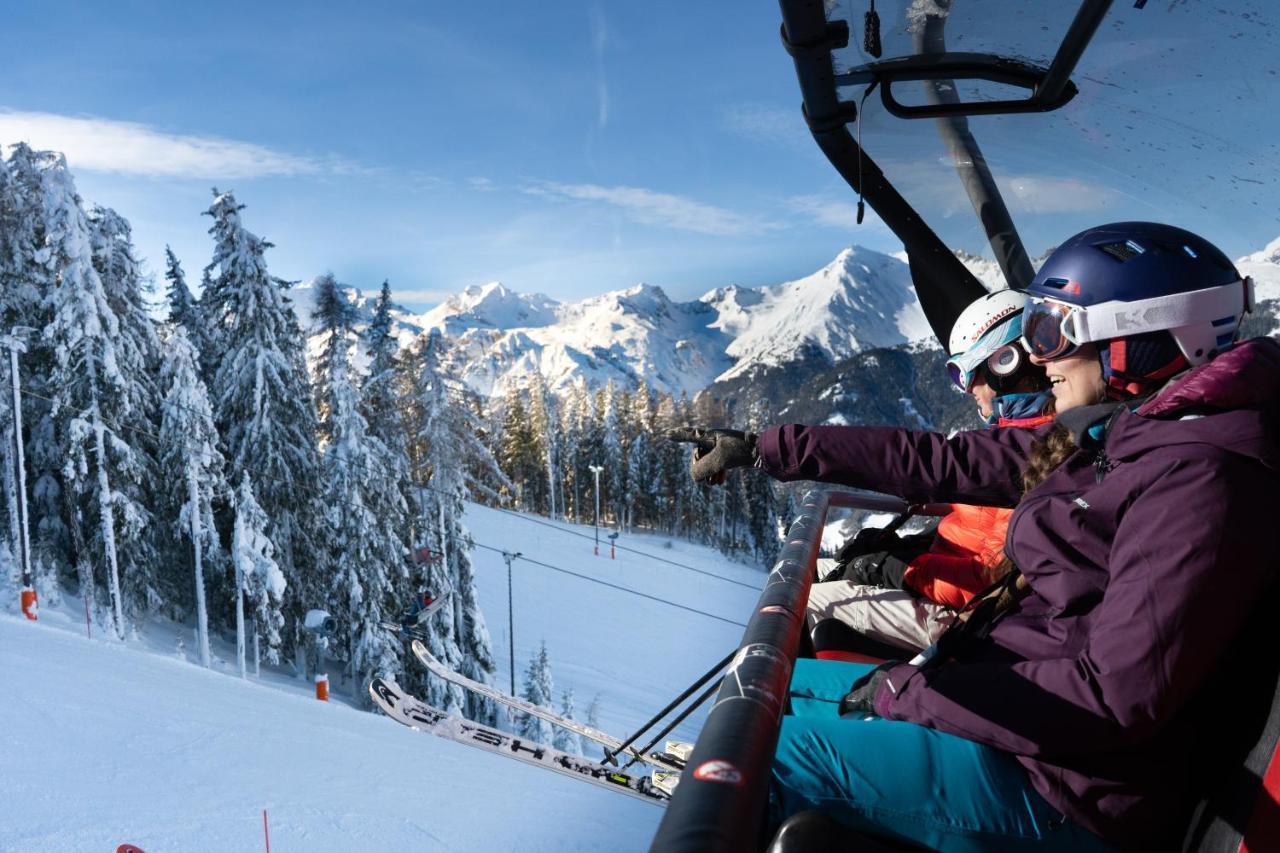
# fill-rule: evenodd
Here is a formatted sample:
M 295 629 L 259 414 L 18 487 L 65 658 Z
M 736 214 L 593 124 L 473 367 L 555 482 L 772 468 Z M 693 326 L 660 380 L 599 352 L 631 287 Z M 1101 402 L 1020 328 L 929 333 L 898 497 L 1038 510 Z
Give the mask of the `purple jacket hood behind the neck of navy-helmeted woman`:
M 1280 342 L 1254 338 L 1189 370 L 1107 435 L 1115 459 L 1171 444 L 1211 444 L 1280 470 Z

